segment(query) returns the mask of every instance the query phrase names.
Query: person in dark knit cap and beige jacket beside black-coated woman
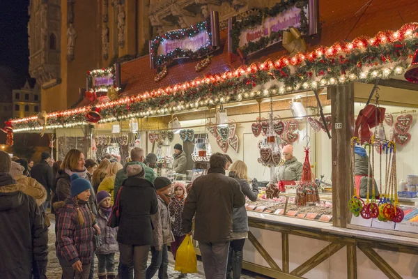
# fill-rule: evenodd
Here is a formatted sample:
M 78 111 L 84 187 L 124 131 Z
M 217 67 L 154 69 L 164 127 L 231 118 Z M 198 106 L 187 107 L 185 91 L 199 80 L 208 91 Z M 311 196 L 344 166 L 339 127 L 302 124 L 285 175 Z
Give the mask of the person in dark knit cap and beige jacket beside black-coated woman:
M 169 278 L 167 273 L 169 266 L 167 244 L 174 241 L 169 213 L 171 181 L 167 177 L 157 176 L 154 186 L 157 190 L 158 212 L 151 216 L 154 227 L 154 246 L 151 247 L 152 258 L 150 266 L 146 269 L 146 279 L 153 278 L 157 271 L 159 279 L 167 279 Z

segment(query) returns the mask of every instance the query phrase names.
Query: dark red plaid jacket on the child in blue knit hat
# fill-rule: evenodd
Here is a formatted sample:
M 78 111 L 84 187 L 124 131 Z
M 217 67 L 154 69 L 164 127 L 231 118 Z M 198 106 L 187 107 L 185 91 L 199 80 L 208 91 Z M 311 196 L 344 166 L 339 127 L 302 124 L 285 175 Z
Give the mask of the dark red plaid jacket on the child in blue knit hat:
M 56 256 L 61 266 L 71 266 L 78 260 L 89 264 L 93 257 L 93 218 L 86 202 L 79 201 L 79 210 L 84 218 L 84 224 L 79 224 L 75 197 L 65 202 L 54 204 L 58 220 L 56 222 Z

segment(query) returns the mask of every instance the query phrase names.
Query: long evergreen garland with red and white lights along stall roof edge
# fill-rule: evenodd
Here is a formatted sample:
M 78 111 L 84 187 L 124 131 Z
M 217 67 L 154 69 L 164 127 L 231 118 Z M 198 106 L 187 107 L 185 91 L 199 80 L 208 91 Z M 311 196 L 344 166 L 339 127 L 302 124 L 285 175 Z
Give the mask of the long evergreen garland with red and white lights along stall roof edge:
M 361 37 L 331 47 L 318 47 L 313 52 L 298 53 L 292 58 L 268 59 L 95 107 L 102 115 L 99 123 L 106 123 L 346 82 L 370 82 L 377 77 L 387 79 L 404 73 L 417 45 L 418 24 L 405 24 L 396 32 L 380 32 L 374 38 Z M 83 125 L 90 110 L 91 106 L 88 106 L 48 114 L 49 128 Z M 15 132 L 42 129 L 36 116 L 15 119 L 11 123 Z

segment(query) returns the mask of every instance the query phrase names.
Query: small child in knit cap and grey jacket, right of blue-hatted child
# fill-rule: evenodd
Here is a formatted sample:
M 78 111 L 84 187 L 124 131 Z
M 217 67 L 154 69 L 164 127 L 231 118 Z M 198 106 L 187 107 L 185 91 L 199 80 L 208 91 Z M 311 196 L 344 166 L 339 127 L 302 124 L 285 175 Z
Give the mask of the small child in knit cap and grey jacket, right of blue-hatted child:
M 111 213 L 111 197 L 110 194 L 102 190 L 96 195 L 98 199 L 98 225 L 100 227 L 100 239 L 102 245 L 96 249 L 98 256 L 98 278 L 115 279 L 117 272 L 115 271 L 115 253 L 119 251 L 116 235 L 118 230 L 116 227 L 107 227 Z

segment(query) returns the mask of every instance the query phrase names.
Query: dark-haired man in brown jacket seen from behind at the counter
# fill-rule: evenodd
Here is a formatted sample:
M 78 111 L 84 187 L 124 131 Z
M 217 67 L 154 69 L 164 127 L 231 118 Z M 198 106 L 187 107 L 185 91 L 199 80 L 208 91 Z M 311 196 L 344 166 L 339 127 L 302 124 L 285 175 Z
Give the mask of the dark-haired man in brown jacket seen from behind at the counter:
M 232 209 L 245 205 L 245 196 L 235 179 L 225 176 L 226 157 L 210 157 L 208 174 L 198 177 L 186 198 L 182 229 L 192 231 L 196 213 L 194 239 L 199 241 L 206 278 L 224 279 L 232 238 Z

